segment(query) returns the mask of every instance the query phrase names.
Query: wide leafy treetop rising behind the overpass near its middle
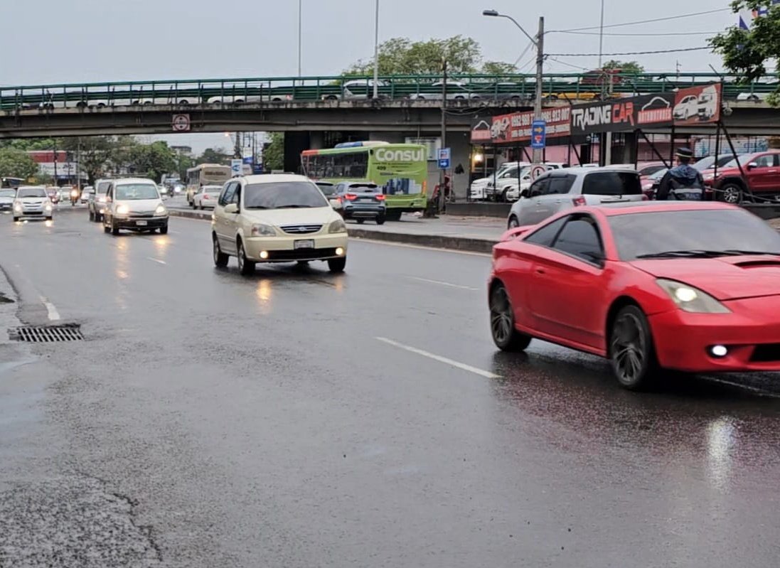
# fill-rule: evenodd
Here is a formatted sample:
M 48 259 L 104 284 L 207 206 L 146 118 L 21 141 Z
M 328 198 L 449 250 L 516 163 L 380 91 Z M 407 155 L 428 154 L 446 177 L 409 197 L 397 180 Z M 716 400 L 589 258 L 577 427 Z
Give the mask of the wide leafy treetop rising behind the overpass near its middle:
M 480 44 L 470 37 L 411 41 L 393 37 L 379 46 L 380 75 L 435 75 L 441 73 L 441 62 L 447 61 L 449 73 L 475 73 L 480 66 Z M 349 75 L 371 75 L 374 60 L 361 60 L 350 66 Z

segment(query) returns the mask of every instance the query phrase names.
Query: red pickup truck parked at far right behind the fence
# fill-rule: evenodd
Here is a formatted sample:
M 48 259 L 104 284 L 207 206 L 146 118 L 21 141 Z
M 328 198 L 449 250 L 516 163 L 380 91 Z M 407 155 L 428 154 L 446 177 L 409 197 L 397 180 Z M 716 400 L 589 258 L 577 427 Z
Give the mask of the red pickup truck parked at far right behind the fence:
M 780 195 L 780 150 L 743 154 L 719 168 L 718 176 L 713 170 L 704 172 L 704 183 L 715 190 L 718 201 L 739 204 L 751 194 L 756 201 L 775 201 Z

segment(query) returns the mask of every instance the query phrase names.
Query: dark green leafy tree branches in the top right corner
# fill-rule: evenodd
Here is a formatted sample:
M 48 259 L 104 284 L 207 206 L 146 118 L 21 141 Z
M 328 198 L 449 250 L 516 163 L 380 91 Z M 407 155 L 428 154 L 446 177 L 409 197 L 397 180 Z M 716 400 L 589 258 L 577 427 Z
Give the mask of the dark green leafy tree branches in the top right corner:
M 780 65 L 780 4 L 767 8 L 767 0 L 735 0 L 732 10 L 758 10 L 766 13 L 753 20 L 750 30 L 731 27 L 722 34 L 711 37 L 710 45 L 722 55 L 723 65 L 739 76 L 740 82 L 749 83 L 767 73 L 767 67 Z M 780 106 L 780 87 L 768 98 L 769 104 Z

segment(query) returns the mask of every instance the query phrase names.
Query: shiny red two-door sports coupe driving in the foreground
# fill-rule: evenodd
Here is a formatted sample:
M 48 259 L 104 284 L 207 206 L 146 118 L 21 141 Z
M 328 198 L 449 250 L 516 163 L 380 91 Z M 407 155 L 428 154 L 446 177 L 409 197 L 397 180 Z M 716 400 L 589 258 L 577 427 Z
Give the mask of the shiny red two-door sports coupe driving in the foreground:
M 640 389 L 660 368 L 780 371 L 780 234 L 735 206 L 570 210 L 493 248 L 491 332 L 607 357 Z

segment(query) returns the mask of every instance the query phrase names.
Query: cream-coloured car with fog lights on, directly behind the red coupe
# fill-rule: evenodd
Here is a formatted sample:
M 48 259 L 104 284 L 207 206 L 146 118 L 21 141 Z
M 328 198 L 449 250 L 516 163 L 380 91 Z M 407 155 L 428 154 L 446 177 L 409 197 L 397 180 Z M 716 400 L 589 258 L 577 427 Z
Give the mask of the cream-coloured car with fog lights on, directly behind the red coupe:
M 331 272 L 346 267 L 344 220 L 321 190 L 304 176 L 243 176 L 225 183 L 211 218 L 214 264 L 236 257 L 250 275 L 258 262 L 327 261 Z

